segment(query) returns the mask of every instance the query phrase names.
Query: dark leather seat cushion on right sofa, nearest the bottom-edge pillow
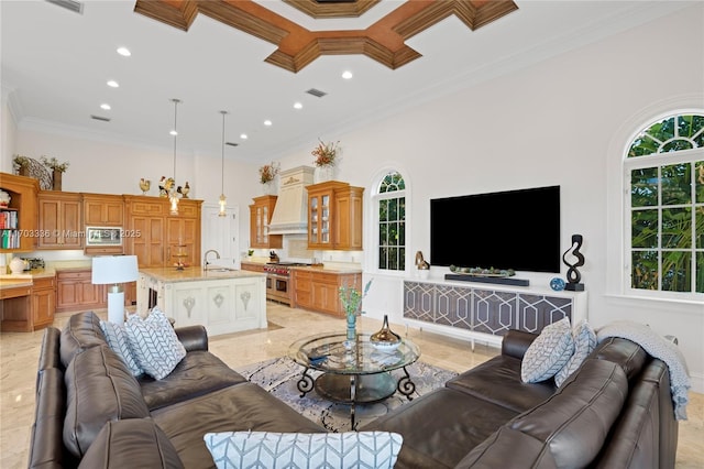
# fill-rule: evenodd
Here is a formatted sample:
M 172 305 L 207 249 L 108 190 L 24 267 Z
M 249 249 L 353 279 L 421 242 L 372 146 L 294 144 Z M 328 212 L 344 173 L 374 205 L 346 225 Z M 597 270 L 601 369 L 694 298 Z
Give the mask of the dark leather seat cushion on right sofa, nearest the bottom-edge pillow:
M 453 467 L 516 415 L 509 408 L 441 388 L 360 429 L 394 432 L 404 437 L 397 469 L 443 468 Z

